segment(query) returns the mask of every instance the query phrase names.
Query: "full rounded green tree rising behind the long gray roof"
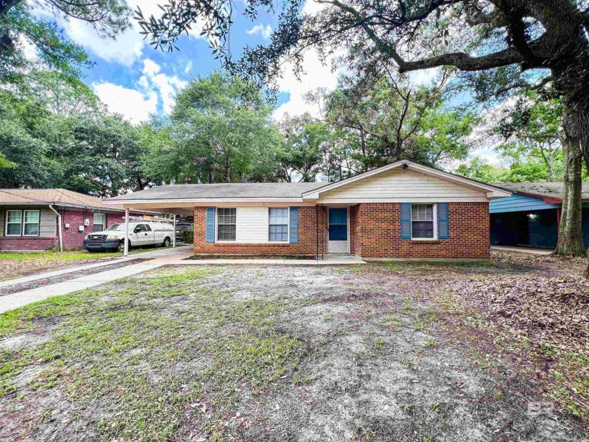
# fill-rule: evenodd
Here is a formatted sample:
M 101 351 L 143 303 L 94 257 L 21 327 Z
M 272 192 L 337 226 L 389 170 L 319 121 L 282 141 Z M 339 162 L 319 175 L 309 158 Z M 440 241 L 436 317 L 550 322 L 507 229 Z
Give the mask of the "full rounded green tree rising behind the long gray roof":
M 276 180 L 280 136 L 271 108 L 243 81 L 213 72 L 177 94 L 166 130 L 145 163 L 150 175 L 177 183 Z

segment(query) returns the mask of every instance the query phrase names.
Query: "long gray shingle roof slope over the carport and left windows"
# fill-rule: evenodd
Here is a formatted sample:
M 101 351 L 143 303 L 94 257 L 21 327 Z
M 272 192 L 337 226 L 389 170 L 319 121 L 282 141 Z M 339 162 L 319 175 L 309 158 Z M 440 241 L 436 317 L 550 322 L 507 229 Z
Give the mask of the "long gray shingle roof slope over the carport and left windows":
M 304 192 L 318 189 L 327 182 L 247 182 L 204 185 L 163 185 L 133 194 L 115 196 L 109 201 L 144 201 L 150 199 L 207 198 L 300 198 Z

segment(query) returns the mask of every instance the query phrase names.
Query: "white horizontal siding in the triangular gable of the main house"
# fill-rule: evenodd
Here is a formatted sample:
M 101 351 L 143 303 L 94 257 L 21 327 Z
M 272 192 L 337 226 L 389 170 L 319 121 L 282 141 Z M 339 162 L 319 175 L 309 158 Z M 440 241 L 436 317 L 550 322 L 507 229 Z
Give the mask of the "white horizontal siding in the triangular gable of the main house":
M 400 168 L 320 194 L 320 203 L 487 201 L 485 192 Z

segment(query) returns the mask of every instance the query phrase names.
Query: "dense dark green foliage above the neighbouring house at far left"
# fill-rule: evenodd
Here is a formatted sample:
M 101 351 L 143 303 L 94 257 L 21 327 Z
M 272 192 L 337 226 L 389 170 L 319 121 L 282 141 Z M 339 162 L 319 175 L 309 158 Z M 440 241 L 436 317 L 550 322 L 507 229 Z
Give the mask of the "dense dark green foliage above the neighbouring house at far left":
M 12 165 L 0 168 L 0 187 L 62 187 L 113 196 L 152 184 L 140 169 L 146 147 L 141 128 L 121 116 L 97 115 L 98 100 L 88 98 L 86 88 L 57 91 L 39 100 L 32 89 L 0 90 L 0 152 Z M 57 108 L 61 112 L 50 112 Z

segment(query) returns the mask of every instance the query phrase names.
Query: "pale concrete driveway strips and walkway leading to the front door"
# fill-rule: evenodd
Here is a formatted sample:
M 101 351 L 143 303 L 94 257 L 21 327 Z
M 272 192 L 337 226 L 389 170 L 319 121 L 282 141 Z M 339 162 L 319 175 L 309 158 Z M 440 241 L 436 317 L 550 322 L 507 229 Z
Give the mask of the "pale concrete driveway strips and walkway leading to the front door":
M 47 272 L 34 276 L 26 276 L 25 278 L 11 279 L 4 281 L 0 287 L 13 286 L 15 284 L 27 283 L 36 281 L 38 279 L 46 279 L 52 276 L 60 276 L 62 274 L 69 274 L 80 272 L 82 270 L 94 269 L 109 264 L 118 264 L 120 262 L 127 262 L 137 259 L 149 259 L 147 262 L 140 262 L 131 264 L 126 267 L 119 267 L 118 269 L 108 270 L 106 272 L 98 272 L 96 274 L 81 276 L 80 278 L 72 279 L 70 281 L 63 281 L 60 283 L 50 284 L 48 286 L 41 286 L 29 290 L 23 290 L 18 293 L 11 293 L 0 297 L 0 314 L 8 312 L 8 310 L 23 307 L 32 302 L 45 300 L 48 297 L 67 295 L 78 290 L 86 290 L 101 284 L 115 281 L 116 279 L 126 278 L 141 272 L 156 269 L 164 265 L 211 265 L 211 264 L 286 264 L 286 265 L 340 265 L 340 264 L 365 264 L 359 257 L 353 255 L 327 255 L 324 260 L 226 260 L 226 259 L 205 259 L 205 260 L 187 260 L 187 257 L 194 255 L 191 246 L 183 246 L 178 248 L 166 248 L 154 250 L 147 253 L 137 253 L 137 255 L 120 258 L 118 260 L 111 260 L 108 262 L 100 262 L 100 264 L 89 264 L 71 269 L 57 270 L 55 272 Z

